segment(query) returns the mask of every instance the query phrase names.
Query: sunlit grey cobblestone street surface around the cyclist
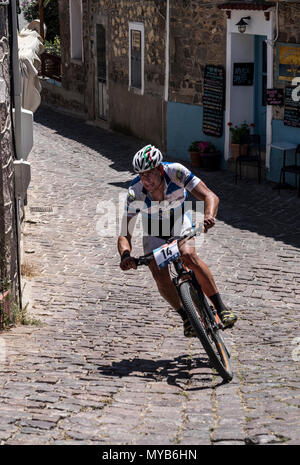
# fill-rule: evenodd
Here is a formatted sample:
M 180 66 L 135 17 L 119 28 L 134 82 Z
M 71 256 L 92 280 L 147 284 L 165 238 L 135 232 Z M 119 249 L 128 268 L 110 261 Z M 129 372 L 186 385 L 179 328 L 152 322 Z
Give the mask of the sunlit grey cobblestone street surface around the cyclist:
M 45 108 L 35 120 L 23 304 L 42 324 L 1 334 L 1 443 L 299 444 L 295 191 L 200 173 L 221 200 L 201 256 L 239 316 L 222 384 L 149 270 L 121 272 L 116 237 L 96 229 L 143 143 Z

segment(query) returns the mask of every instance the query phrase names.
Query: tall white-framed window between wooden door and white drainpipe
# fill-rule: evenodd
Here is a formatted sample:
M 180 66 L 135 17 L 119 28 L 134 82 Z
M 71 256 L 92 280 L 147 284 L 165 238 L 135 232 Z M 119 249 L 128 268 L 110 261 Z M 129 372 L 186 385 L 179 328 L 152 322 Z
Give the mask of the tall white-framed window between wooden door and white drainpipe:
M 144 25 L 129 23 L 129 88 L 144 93 Z

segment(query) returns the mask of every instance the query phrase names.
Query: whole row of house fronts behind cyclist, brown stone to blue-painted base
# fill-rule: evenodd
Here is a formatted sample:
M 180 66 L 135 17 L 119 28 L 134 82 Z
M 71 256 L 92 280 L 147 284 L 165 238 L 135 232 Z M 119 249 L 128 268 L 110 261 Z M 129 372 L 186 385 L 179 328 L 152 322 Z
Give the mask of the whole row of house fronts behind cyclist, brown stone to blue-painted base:
M 193 140 L 210 141 L 222 168 L 228 123 L 246 121 L 261 136 L 266 178 L 278 181 L 282 151 L 273 145 L 300 143 L 299 2 L 60 0 L 59 8 L 62 85 L 45 84 L 46 101 L 180 159 Z

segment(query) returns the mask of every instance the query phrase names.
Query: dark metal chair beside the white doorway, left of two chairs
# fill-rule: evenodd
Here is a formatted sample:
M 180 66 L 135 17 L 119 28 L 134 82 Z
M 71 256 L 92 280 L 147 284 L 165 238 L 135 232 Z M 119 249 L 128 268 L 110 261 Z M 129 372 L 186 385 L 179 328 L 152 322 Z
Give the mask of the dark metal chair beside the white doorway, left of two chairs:
M 248 145 L 246 155 L 241 154 L 242 145 Z M 254 163 L 257 167 L 258 183 L 261 182 L 261 144 L 260 136 L 258 134 L 249 134 L 241 136 L 240 138 L 240 154 L 235 160 L 235 184 L 238 178 L 238 166 L 240 179 L 242 178 L 242 163 Z

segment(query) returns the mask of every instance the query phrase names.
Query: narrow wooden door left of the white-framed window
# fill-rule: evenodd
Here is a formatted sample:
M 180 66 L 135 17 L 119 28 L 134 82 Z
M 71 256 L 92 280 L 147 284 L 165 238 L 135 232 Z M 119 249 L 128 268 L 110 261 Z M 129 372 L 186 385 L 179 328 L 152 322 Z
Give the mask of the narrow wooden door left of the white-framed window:
M 106 73 L 106 30 L 102 24 L 96 24 L 97 46 L 97 118 L 107 120 L 108 93 Z

